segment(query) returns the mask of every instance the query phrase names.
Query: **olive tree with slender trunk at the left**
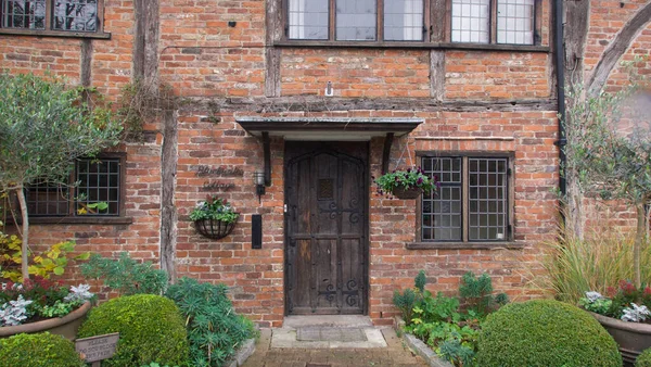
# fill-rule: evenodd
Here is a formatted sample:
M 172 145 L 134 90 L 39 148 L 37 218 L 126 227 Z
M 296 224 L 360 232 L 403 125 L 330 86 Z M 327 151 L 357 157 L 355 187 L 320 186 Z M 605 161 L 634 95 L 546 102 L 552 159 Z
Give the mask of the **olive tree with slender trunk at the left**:
M 18 199 L 21 273 L 29 278 L 29 210 L 25 187 L 67 185 L 75 160 L 119 142 L 122 125 L 108 109 L 91 107 L 62 78 L 0 74 L 0 192 Z

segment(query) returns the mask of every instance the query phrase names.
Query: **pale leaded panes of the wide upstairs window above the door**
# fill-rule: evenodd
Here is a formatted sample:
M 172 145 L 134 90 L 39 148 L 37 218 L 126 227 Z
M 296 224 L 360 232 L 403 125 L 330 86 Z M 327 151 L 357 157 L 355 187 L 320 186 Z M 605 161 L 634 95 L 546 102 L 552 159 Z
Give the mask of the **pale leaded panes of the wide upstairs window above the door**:
M 285 0 L 285 37 L 322 41 L 429 41 L 437 12 L 444 40 L 539 43 L 539 0 Z

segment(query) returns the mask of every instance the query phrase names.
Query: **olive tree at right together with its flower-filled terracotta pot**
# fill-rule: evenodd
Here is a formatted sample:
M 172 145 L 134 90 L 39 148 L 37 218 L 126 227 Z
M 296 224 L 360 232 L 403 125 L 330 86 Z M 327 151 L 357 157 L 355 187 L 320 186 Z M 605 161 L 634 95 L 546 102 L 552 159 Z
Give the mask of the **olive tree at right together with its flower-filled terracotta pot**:
M 609 303 L 592 294 L 587 298 L 591 302 L 583 302 L 584 308 L 596 313 L 593 316 L 613 336 L 628 362 L 651 347 L 651 325 L 639 322 L 648 313 L 641 299 L 651 300 L 651 289 L 642 287 L 640 270 L 642 246 L 648 243 L 644 206 L 651 203 L 650 116 L 636 107 L 643 105 L 638 99 L 644 96 L 635 81 L 617 93 L 588 97 L 575 87 L 569 93 L 571 109 L 564 122 L 569 132 L 565 168 L 576 177 L 580 191 L 596 199 L 626 203 L 636 213 L 630 264 L 634 279 L 620 287 L 625 298 L 612 294 L 612 300 L 618 296 L 624 301 Z M 651 305 L 649 300 L 644 303 Z

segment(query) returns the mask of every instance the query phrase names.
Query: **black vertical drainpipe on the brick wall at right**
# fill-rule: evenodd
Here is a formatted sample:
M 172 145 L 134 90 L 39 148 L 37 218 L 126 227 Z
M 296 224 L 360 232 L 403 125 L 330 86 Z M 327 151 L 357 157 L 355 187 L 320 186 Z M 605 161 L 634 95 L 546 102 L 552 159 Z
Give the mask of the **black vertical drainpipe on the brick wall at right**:
M 554 2 L 554 56 L 556 56 L 556 72 L 557 72 L 557 99 L 558 99 L 558 111 L 559 111 L 559 140 L 554 142 L 559 147 L 559 164 L 560 164 L 560 177 L 559 177 L 559 189 L 561 195 L 564 198 L 567 193 L 567 181 L 565 174 L 563 173 L 563 166 L 566 162 L 565 145 L 567 139 L 565 138 L 565 49 L 563 45 L 563 0 L 556 0 Z

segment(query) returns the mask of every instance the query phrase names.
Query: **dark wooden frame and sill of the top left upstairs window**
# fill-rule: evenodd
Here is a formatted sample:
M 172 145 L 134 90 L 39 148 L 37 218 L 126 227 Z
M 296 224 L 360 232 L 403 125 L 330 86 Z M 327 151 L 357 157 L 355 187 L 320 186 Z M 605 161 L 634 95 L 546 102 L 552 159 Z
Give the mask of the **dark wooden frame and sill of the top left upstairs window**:
M 7 0 L 0 0 L 0 35 L 21 35 L 38 37 L 68 37 L 68 38 L 98 38 L 110 39 L 111 34 L 104 31 L 104 0 L 97 0 L 97 30 L 95 31 L 72 31 L 53 29 L 53 9 L 55 0 L 46 0 L 46 27 L 44 29 L 27 28 L 4 28 L 2 20 L 4 17 L 4 3 Z

